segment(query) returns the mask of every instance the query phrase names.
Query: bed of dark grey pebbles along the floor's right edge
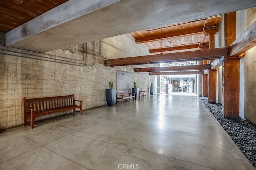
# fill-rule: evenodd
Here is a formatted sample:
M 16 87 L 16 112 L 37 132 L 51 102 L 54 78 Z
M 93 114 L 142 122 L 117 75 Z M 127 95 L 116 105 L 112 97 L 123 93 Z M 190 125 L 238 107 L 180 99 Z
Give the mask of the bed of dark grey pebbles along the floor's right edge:
M 256 126 L 241 117 L 223 118 L 222 105 L 208 103 L 208 99 L 202 101 L 256 169 Z

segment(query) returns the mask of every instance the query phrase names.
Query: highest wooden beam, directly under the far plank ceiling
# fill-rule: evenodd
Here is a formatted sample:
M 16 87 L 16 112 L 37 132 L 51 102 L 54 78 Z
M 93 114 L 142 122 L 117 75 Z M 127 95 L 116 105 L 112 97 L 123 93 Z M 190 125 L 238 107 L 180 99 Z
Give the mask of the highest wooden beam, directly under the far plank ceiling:
M 135 42 L 136 43 L 146 43 L 146 42 L 160 40 L 161 38 L 171 38 L 171 37 L 176 37 L 176 36 L 184 36 L 186 34 L 202 33 L 202 31 L 203 31 L 203 29 L 198 27 L 198 28 L 186 29 L 186 30 L 178 31 L 178 32 L 167 32 L 166 34 L 162 34 L 162 35 L 158 34 L 158 35 L 154 35 L 154 36 L 136 38 Z M 218 33 L 218 26 L 214 26 L 211 28 L 205 28 L 204 32 L 206 32 L 206 34 Z

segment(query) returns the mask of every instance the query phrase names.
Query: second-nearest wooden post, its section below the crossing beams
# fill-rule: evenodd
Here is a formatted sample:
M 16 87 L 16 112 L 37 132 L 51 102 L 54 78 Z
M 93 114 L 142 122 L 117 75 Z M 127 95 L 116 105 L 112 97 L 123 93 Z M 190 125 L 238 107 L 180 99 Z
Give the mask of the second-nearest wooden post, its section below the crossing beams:
M 217 71 L 209 70 L 208 74 L 208 103 L 216 103 Z

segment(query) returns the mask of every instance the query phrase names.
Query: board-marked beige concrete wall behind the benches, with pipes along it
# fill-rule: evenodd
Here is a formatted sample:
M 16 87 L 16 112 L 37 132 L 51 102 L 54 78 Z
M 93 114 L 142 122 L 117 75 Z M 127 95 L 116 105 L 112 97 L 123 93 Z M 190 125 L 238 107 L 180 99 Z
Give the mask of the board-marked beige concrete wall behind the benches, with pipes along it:
M 3 42 L 3 34 L 0 38 Z M 155 76 L 135 73 L 134 67 L 130 66 L 104 66 L 104 59 L 148 54 L 148 49 L 136 44 L 130 34 L 58 49 L 47 54 L 0 45 L 0 129 L 23 124 L 23 97 L 74 93 L 76 99 L 84 101 L 83 110 L 106 105 L 105 89 L 109 88 L 109 81 L 113 81 L 116 88 L 117 70 L 132 73 L 130 83 L 138 83 L 138 87 L 149 93 L 150 83 L 155 82 Z

